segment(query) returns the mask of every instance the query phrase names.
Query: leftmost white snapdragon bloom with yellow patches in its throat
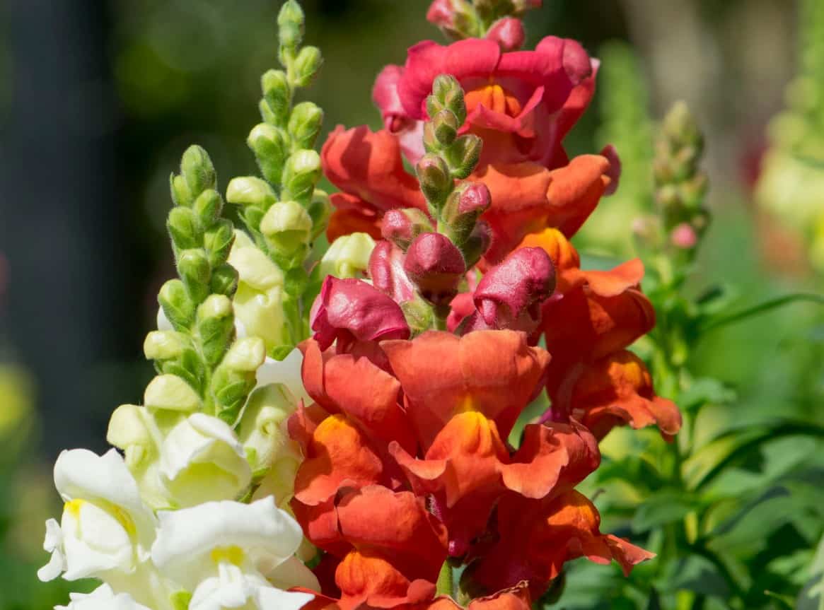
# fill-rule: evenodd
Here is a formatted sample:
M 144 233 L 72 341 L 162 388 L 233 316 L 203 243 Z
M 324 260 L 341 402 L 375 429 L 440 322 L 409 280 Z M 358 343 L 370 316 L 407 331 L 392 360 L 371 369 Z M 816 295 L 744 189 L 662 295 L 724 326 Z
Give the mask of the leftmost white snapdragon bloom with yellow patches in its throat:
M 63 451 L 54 484 L 65 502 L 61 523 L 46 522 L 44 549 L 52 553 L 40 580 L 66 580 L 109 572 L 130 574 L 147 560 L 155 519 L 143 504 L 129 469 L 115 449 L 98 456 Z

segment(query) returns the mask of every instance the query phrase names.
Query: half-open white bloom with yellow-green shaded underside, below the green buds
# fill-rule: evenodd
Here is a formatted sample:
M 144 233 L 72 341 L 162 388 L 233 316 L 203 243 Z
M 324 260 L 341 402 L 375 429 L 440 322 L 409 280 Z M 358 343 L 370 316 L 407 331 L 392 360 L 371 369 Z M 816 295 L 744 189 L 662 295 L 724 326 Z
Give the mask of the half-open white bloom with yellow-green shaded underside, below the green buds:
M 241 442 L 225 421 L 194 413 L 169 431 L 160 475 L 171 504 L 186 507 L 239 496 L 251 482 Z

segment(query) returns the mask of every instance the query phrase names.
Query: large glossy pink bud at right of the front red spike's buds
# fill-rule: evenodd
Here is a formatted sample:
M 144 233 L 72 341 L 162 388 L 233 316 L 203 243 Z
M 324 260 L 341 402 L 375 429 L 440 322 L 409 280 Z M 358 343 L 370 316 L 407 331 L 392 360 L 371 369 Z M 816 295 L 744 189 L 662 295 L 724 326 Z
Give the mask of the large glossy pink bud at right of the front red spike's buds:
M 541 303 L 553 291 L 555 267 L 549 255 L 541 248 L 520 248 L 478 284 L 477 315 L 489 328 L 531 333 L 541 322 Z

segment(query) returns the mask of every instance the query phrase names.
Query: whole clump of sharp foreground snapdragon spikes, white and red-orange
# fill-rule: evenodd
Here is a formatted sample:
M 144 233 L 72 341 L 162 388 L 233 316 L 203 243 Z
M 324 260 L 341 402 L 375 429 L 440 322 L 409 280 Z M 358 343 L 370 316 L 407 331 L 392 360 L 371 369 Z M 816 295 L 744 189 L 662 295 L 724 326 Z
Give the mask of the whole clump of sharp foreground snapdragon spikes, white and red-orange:
M 584 270 L 569 241 L 620 162 L 566 155 L 598 63 L 551 36 L 518 50 L 540 4 L 433 2 L 463 40 L 386 67 L 385 127 L 338 127 L 320 157 L 322 111 L 292 105 L 320 55 L 284 5 L 249 138 L 262 178 L 227 189 L 246 230 L 187 151 L 157 376 L 113 413 L 116 449 L 55 464 L 40 578 L 104 583 L 59 608 L 530 608 L 566 561 L 653 556 L 575 489 L 614 426 L 671 440 L 681 416 L 628 350 L 655 324 L 643 265 Z

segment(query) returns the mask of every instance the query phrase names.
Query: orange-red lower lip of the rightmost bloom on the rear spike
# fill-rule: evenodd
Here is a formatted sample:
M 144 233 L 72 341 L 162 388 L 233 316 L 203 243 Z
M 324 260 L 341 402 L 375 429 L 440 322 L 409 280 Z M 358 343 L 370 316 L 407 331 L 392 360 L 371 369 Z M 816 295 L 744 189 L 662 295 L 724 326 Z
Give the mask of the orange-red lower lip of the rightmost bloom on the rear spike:
M 681 412 L 653 390 L 652 376 L 632 352 L 616 352 L 588 366 L 573 390 L 573 417 L 603 438 L 613 426 L 658 425 L 671 437 L 681 429 Z

